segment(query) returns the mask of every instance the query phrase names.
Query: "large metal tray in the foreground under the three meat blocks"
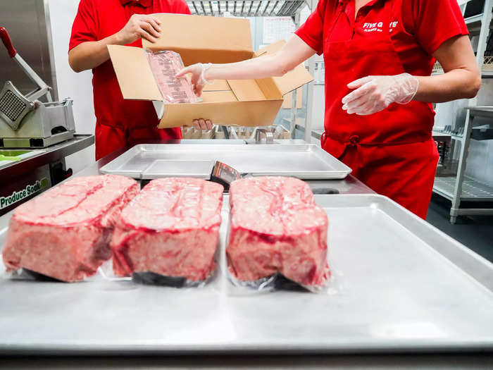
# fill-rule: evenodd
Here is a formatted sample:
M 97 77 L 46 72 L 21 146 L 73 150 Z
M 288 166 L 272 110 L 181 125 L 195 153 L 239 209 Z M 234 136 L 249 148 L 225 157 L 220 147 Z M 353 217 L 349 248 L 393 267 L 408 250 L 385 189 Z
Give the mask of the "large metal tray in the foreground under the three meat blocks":
M 330 294 L 238 295 L 224 254 L 201 289 L 0 278 L 0 354 L 493 350 L 492 264 L 385 197 L 316 199 Z M 227 223 L 225 206 L 221 249 Z

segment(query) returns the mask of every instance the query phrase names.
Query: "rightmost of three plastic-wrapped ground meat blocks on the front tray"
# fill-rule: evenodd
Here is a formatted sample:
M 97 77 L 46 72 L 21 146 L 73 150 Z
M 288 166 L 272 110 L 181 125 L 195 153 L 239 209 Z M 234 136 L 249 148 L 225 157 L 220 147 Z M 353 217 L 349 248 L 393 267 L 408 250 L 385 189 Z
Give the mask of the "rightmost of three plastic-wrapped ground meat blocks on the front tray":
M 269 281 L 281 274 L 313 291 L 327 285 L 327 215 L 306 183 L 270 176 L 236 180 L 230 206 L 226 254 L 234 283 L 271 288 Z

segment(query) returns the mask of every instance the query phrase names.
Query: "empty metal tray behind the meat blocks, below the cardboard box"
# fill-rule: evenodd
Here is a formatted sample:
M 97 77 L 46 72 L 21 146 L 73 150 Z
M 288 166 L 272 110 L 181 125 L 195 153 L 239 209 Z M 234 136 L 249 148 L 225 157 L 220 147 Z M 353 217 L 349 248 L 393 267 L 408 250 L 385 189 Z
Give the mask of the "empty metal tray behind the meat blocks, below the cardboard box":
M 140 144 L 101 167 L 102 173 L 137 179 L 192 176 L 208 179 L 214 161 L 240 173 L 340 179 L 351 168 L 315 144 Z

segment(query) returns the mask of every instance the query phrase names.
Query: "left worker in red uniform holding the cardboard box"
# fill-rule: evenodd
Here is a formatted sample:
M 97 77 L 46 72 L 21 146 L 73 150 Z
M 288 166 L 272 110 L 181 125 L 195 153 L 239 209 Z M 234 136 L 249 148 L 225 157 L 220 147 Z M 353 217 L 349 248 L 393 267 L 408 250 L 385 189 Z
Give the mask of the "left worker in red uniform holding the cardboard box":
M 152 13 L 189 14 L 184 0 L 81 0 L 72 26 L 68 61 L 75 72 L 92 69 L 96 160 L 135 140 L 180 139 L 180 128 L 158 129 L 151 101 L 123 100 L 108 44 L 142 47 L 161 28 Z

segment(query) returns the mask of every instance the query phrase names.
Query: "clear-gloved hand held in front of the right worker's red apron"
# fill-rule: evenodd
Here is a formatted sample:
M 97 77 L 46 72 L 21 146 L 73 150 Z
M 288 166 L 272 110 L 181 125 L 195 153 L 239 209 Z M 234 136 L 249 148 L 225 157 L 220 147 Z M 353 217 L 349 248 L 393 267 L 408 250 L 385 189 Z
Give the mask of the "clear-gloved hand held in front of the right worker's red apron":
M 363 77 L 347 85 L 356 90 L 342 98 L 342 109 L 348 114 L 368 116 L 392 103 L 408 104 L 418 92 L 418 86 L 418 78 L 409 73 Z

